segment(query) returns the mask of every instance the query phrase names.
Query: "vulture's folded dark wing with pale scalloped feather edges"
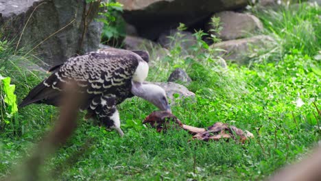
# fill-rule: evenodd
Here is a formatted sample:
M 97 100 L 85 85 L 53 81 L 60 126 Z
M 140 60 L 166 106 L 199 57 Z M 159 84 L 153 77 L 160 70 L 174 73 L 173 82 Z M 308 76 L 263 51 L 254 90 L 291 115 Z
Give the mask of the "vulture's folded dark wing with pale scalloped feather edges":
M 64 84 L 71 81 L 77 82 L 88 97 L 115 92 L 119 86 L 128 84 L 140 61 L 143 60 L 136 53 L 121 49 L 104 49 L 70 58 L 31 90 L 20 106 L 47 103 L 46 100 L 53 102 L 58 99 Z M 54 102 L 58 106 L 57 101 Z

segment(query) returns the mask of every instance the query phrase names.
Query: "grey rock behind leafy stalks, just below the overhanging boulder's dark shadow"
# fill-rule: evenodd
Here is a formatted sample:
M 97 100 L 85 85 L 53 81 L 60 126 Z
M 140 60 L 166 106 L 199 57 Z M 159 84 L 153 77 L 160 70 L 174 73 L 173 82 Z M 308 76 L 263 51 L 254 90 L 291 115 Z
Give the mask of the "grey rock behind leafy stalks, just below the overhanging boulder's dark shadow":
M 171 29 L 167 33 L 160 34 L 157 42 L 167 49 L 172 49 L 176 45 L 180 46 L 182 53 L 187 54 L 189 49 L 197 43 L 197 40 L 191 32 Z

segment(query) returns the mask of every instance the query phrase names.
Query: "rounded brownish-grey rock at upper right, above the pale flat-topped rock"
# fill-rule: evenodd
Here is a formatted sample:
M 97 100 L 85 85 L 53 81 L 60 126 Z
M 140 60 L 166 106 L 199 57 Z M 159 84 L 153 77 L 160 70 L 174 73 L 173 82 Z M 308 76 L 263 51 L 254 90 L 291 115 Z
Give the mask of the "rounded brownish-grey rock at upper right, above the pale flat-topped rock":
M 219 12 L 214 16 L 219 17 L 222 24 L 222 30 L 218 35 L 222 40 L 244 38 L 263 29 L 261 21 L 251 14 L 226 11 Z M 210 24 L 208 28 L 213 29 L 215 27 Z

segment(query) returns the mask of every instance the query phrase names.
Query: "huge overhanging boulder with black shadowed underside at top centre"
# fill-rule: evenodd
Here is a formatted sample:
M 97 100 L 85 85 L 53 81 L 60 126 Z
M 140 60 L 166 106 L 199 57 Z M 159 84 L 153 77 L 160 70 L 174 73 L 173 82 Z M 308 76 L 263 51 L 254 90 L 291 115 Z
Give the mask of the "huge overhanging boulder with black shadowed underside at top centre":
M 178 23 L 191 27 L 208 19 L 214 12 L 235 10 L 247 0 L 117 0 L 123 4 L 124 19 L 134 25 L 140 36 L 156 40 L 166 29 Z

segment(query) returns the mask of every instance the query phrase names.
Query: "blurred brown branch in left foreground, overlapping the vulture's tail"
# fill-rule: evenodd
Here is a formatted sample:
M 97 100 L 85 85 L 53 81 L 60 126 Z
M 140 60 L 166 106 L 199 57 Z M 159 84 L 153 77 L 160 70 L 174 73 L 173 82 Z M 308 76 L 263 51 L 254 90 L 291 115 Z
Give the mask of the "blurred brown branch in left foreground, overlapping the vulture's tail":
M 67 84 L 60 106 L 60 117 L 53 130 L 41 141 L 32 156 L 19 169 L 19 173 L 12 174 L 8 180 L 39 180 L 39 169 L 46 158 L 66 143 L 77 128 L 78 108 L 84 97 L 78 93 L 77 84 Z M 21 170 L 22 169 L 22 170 Z M 18 171 L 18 170 L 16 170 Z

